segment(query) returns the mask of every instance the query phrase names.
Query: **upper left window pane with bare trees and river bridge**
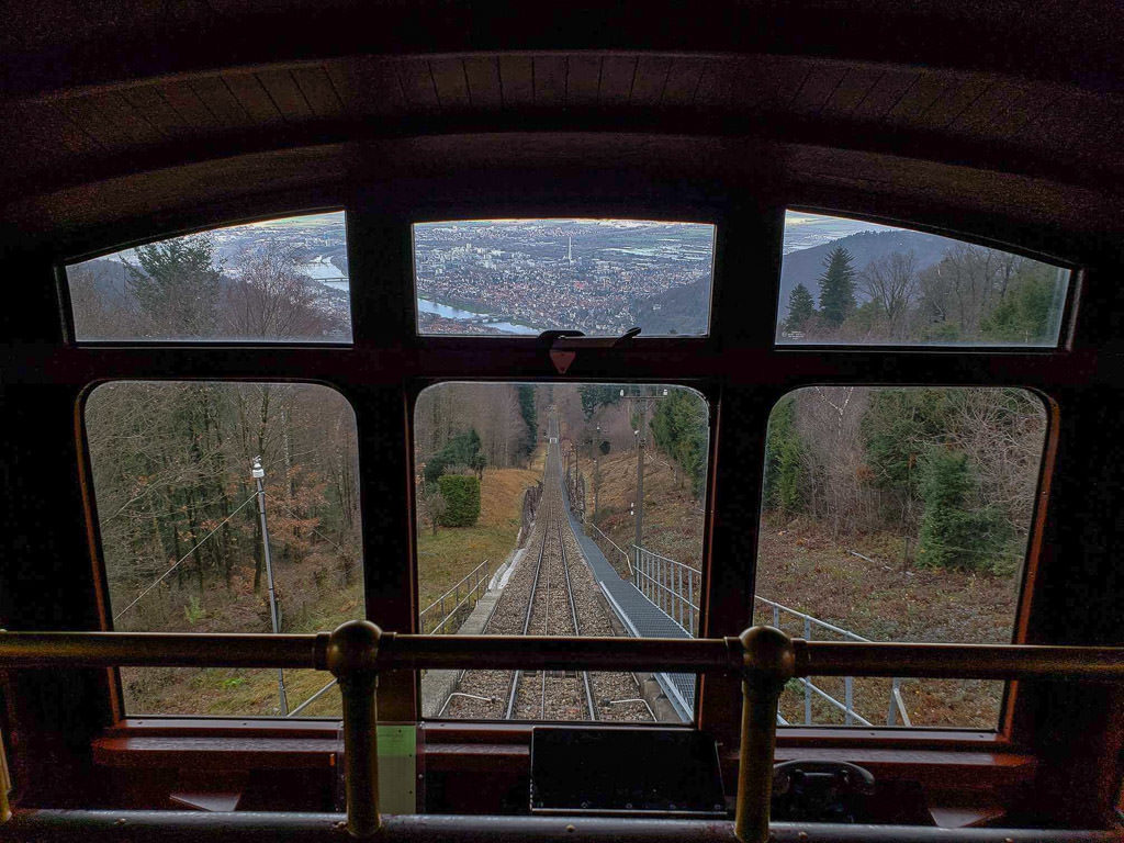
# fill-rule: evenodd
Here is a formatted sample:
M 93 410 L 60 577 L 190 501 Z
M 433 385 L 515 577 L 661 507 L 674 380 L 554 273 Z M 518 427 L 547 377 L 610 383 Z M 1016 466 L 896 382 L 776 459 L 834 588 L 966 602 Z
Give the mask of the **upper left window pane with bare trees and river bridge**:
M 350 343 L 344 212 L 173 237 L 66 268 L 79 342 Z

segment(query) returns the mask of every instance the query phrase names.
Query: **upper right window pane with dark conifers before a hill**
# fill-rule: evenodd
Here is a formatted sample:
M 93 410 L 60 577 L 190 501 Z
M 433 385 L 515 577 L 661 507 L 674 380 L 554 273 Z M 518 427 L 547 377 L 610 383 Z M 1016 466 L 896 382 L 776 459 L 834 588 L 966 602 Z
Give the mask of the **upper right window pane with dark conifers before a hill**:
M 1069 277 L 935 234 L 788 211 L 777 343 L 1053 347 Z

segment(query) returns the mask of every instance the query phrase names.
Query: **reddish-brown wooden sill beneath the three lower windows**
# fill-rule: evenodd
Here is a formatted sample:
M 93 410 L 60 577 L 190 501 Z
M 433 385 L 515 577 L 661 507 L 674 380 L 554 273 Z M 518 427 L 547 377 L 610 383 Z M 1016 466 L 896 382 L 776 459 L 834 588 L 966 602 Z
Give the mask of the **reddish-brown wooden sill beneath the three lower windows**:
M 93 742 L 99 765 L 126 769 L 329 769 L 339 747 L 335 720 L 126 719 Z M 531 726 L 423 723 L 418 753 L 427 772 L 522 772 Z M 724 774 L 736 774 L 736 747 L 720 747 Z M 934 791 L 1017 787 L 1035 773 L 1033 755 L 979 732 L 781 729 L 777 760 L 850 761 L 877 778 L 918 781 Z M 733 781 L 733 779 L 729 779 Z M 729 782 L 727 782 L 728 785 Z

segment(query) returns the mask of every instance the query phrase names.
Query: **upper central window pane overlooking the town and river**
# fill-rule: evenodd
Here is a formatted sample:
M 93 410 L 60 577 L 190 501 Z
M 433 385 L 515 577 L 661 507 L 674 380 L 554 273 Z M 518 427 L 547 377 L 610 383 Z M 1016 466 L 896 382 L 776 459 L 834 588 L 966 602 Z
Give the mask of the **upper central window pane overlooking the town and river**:
M 714 233 L 637 219 L 418 223 L 418 333 L 706 335 Z

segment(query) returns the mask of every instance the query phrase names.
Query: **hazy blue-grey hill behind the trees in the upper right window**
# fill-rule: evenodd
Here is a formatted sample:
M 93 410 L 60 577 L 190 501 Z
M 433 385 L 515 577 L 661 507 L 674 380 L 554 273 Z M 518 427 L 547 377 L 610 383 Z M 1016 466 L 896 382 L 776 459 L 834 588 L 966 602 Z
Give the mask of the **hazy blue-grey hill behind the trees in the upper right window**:
M 788 298 L 797 284 L 804 284 L 819 303 L 819 277 L 824 272 L 824 261 L 828 253 L 842 246 L 854 257 L 852 266 L 862 272 L 872 261 L 894 252 L 913 251 L 917 271 L 928 269 L 940 262 L 949 250 L 946 237 L 922 232 L 860 232 L 810 248 L 801 248 L 785 255 L 780 273 L 780 318 L 788 317 Z M 865 298 L 855 290 L 855 298 L 862 303 Z

